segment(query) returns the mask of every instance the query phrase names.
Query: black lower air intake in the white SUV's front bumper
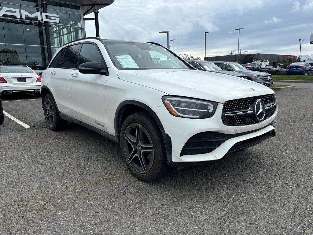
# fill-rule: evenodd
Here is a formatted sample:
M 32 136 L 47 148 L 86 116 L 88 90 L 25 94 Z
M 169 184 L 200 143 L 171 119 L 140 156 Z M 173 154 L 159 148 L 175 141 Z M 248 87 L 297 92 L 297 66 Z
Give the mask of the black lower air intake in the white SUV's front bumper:
M 188 139 L 188 141 L 182 148 L 180 155 L 183 156 L 183 155 L 210 153 L 230 138 L 235 138 L 238 136 L 254 133 L 263 128 L 260 128 L 258 130 L 253 130 L 253 131 L 247 131 L 243 133 L 237 133 L 237 134 L 223 134 L 223 133 L 212 132 L 212 131 L 201 132 L 201 133 L 195 134 L 194 136 Z

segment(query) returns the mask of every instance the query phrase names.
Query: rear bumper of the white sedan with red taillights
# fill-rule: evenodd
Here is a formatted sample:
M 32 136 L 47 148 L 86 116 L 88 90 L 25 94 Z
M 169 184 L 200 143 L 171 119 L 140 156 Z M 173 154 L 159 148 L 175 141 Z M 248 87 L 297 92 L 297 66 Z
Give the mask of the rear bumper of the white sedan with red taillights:
M 0 83 L 1 94 L 11 94 L 13 92 L 23 92 L 23 93 L 40 93 L 41 83 L 37 84 L 27 84 L 27 85 L 12 85 L 8 83 Z

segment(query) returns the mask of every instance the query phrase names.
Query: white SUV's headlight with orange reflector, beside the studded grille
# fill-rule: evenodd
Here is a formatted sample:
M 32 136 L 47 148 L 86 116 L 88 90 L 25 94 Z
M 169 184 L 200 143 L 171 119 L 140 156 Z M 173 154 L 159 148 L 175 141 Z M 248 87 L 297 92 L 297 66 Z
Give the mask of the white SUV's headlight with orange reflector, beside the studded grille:
M 173 116 L 197 119 L 212 117 L 218 104 L 212 101 L 172 96 L 163 96 L 162 101 Z

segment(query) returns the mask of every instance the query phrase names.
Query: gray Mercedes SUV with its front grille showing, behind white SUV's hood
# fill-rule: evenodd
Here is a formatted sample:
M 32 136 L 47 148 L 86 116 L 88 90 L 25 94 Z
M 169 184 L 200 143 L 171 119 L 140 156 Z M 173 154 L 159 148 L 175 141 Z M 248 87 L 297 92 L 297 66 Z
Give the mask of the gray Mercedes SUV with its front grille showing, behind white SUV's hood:
M 255 81 L 265 86 L 273 85 L 273 77 L 268 73 L 248 70 L 236 62 L 213 61 L 213 63 L 220 66 L 223 70 L 242 73 L 251 81 Z

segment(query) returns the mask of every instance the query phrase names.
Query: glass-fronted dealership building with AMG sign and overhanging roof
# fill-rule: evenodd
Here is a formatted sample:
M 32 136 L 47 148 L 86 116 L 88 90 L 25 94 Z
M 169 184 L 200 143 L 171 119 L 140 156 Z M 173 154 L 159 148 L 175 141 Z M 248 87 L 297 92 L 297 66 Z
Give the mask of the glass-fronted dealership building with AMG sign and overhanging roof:
M 114 0 L 0 0 L 0 65 L 44 70 L 62 45 L 85 37 L 85 20 Z M 94 18 L 85 18 L 89 13 Z

